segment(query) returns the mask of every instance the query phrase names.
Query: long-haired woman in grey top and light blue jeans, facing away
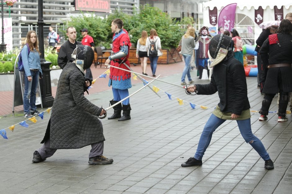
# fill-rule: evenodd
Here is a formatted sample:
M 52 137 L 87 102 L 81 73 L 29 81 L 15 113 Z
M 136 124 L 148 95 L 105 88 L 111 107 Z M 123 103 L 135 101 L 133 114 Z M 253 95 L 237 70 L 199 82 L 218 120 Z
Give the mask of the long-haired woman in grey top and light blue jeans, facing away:
M 194 81 L 192 80 L 190 74 L 190 62 L 193 55 L 193 50 L 195 47 L 195 28 L 189 27 L 187 32 L 181 37 L 181 52 L 182 56 L 184 57 L 185 61 L 185 68 L 183 74 L 181 76 L 181 84 L 185 84 L 185 75 L 188 76 L 189 82 L 186 84 L 191 84 Z

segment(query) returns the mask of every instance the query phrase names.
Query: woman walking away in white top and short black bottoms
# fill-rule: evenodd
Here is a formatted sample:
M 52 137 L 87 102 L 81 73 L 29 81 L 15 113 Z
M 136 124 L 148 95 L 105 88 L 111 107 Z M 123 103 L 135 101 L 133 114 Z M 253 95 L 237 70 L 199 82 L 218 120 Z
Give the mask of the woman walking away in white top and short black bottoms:
M 146 49 L 147 37 L 148 37 L 148 33 L 145 30 L 143 30 L 142 36 L 141 38 L 139 38 L 137 42 L 137 50 L 136 50 L 136 57 L 140 58 L 143 75 L 148 75 L 146 73 L 147 61 L 148 61 L 148 54 L 147 54 L 147 49 Z

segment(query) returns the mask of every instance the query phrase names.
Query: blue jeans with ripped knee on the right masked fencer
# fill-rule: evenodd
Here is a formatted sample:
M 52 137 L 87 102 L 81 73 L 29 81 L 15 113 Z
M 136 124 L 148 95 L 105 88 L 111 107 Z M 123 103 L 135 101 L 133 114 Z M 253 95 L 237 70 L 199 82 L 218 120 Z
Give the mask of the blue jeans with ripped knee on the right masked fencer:
M 214 114 L 210 116 L 201 134 L 197 152 L 195 153 L 194 158 L 196 158 L 197 160 L 202 160 L 203 155 L 211 142 L 213 132 L 225 121 L 226 121 L 225 119 L 220 119 L 216 117 Z M 259 140 L 255 135 L 253 135 L 250 126 L 250 119 L 236 120 L 236 122 L 238 124 L 239 131 L 242 137 L 244 138 L 245 142 L 249 143 L 253 147 L 253 149 L 255 149 L 255 151 L 258 152 L 258 154 L 262 157 L 263 160 L 270 159 L 270 156 L 267 153 L 267 150 L 265 149 L 261 140 Z

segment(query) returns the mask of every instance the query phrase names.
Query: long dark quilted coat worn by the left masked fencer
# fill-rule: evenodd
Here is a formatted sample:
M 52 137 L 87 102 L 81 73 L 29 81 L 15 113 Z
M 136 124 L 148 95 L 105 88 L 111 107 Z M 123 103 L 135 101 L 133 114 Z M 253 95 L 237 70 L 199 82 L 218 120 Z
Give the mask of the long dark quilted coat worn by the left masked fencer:
M 104 141 L 97 116 L 102 109 L 84 97 L 85 78 L 75 63 L 67 63 L 57 86 L 50 122 L 42 142 L 52 149 L 75 149 Z

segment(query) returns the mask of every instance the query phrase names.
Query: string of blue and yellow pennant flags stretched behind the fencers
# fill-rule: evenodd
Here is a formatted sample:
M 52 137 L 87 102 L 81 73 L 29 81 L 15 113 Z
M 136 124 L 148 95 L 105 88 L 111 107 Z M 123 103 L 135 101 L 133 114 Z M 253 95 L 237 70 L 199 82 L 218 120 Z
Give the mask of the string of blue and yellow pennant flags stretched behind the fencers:
M 110 74 L 110 69 L 107 69 L 107 71 L 103 72 L 103 74 L 101 74 L 98 78 L 106 78 L 106 76 L 109 75 L 109 74 Z M 92 81 L 92 84 L 94 84 L 95 81 L 96 81 L 98 78 L 94 79 L 94 80 Z M 134 80 L 137 80 L 137 75 L 133 74 L 133 79 L 134 79 Z M 142 79 L 143 79 L 143 78 L 142 78 Z M 144 80 L 144 79 L 143 79 L 143 80 Z M 148 84 L 148 81 L 144 80 L 144 83 L 143 83 L 143 84 L 144 84 L 144 85 Z M 160 90 L 161 90 L 162 92 L 166 93 L 166 94 L 167 94 L 167 97 L 168 97 L 169 100 L 172 100 L 171 97 L 175 97 L 175 96 L 171 95 L 170 93 L 167 93 L 166 91 L 164 91 L 164 90 L 162 90 L 162 89 L 156 87 L 156 86 L 153 85 L 153 84 L 150 84 L 150 85 L 153 86 L 153 90 L 154 90 L 156 93 L 157 93 L 158 91 L 160 91 Z M 90 86 L 89 88 L 91 88 L 91 86 Z M 89 89 L 89 88 L 88 88 L 88 89 Z M 194 104 L 194 103 L 191 103 L 191 102 L 188 102 L 188 101 L 182 100 L 182 99 L 180 99 L 180 98 L 178 98 L 178 97 L 175 97 L 175 98 L 176 98 L 176 100 L 178 101 L 179 105 L 184 105 L 184 102 L 186 102 L 186 103 L 189 103 L 189 105 L 190 105 L 190 107 L 191 107 L 192 109 L 195 109 L 196 106 L 198 106 L 198 107 L 200 107 L 200 108 L 202 108 L 202 109 L 209 109 L 209 108 L 211 108 L 211 107 L 208 107 L 208 106 L 196 105 L 196 104 Z M 48 109 L 45 110 L 45 111 L 49 114 L 51 109 L 52 109 L 52 107 L 48 108 Z M 214 108 L 214 109 L 215 109 L 215 108 Z M 41 112 L 41 113 L 38 114 L 37 116 L 39 116 L 41 119 L 43 119 L 43 114 L 44 114 L 45 111 Z M 256 113 L 256 112 L 258 112 L 258 111 L 257 111 L 257 110 L 250 110 L 250 112 Z M 269 111 L 269 113 L 277 113 L 277 111 Z M 290 110 L 287 110 L 287 111 L 286 111 L 286 114 L 291 114 L 291 111 L 290 111 Z M 37 119 L 36 119 L 35 116 L 34 116 L 34 117 L 32 117 L 32 118 L 30 118 L 30 119 L 26 119 L 26 120 L 24 120 L 24 121 L 22 121 L 22 122 L 20 122 L 20 123 L 16 123 L 16 124 L 14 124 L 14 125 L 11 125 L 10 127 L 6 127 L 6 128 L 4 128 L 4 129 L 1 129 L 1 130 L 0 130 L 0 135 L 1 135 L 4 139 L 8 139 L 8 138 L 7 138 L 6 129 L 9 128 L 9 129 L 13 132 L 13 131 L 14 131 L 14 128 L 15 128 L 15 125 L 17 125 L 17 124 L 20 124 L 20 125 L 23 126 L 23 127 L 29 127 L 29 124 L 26 123 L 26 121 L 28 121 L 28 120 L 30 120 L 30 121 L 33 122 L 33 123 L 36 123 L 36 122 L 37 122 Z

